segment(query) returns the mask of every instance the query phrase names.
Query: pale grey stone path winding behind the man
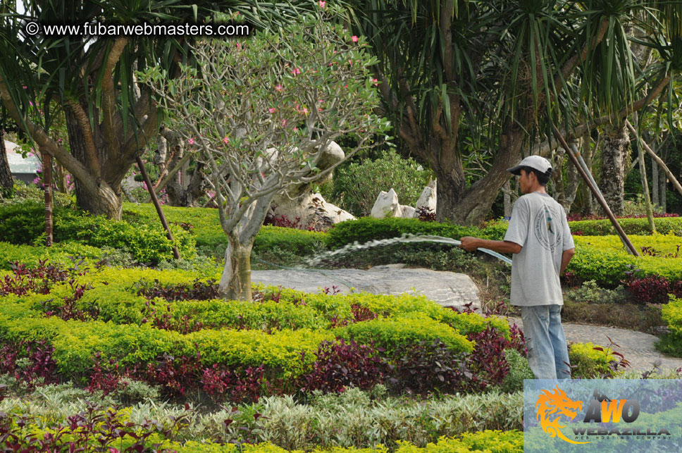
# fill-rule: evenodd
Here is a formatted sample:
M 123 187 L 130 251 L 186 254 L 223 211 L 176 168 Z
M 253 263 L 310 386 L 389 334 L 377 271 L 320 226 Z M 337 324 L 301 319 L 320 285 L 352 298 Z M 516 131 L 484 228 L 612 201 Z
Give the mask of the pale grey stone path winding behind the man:
M 268 285 L 281 285 L 306 292 L 318 292 L 324 287 L 335 285 L 342 292 L 366 291 L 373 294 L 419 293 L 443 306 L 462 306 L 473 302 L 478 308 L 476 284 L 468 275 L 430 271 L 429 269 L 407 269 L 402 265 L 376 266 L 367 271 L 359 269 L 253 271 L 252 280 Z M 521 319 L 509 318 L 521 326 Z M 633 370 L 649 370 L 660 359 L 661 368 L 682 367 L 682 359 L 664 356 L 654 347 L 657 337 L 635 330 L 564 323 L 566 340 L 593 342 L 608 346 L 610 337 L 619 347 L 614 347 L 630 361 Z

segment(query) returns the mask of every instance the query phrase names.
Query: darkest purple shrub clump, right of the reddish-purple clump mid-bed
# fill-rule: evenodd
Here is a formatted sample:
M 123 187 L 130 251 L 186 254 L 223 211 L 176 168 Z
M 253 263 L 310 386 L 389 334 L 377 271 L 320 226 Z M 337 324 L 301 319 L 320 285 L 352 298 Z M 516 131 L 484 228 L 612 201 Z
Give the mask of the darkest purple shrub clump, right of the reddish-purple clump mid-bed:
M 437 339 L 398 352 L 388 384 L 395 392 L 454 393 L 470 390 L 477 380 L 469 370 L 466 354 L 452 351 Z

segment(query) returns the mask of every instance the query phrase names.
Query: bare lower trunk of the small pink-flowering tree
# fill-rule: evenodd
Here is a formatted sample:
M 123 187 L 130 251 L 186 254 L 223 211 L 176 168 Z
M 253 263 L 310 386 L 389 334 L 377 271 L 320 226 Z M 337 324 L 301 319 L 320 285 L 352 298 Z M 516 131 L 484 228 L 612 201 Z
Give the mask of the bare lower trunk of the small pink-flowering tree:
M 251 250 L 254 242 L 241 244 L 238 235 L 228 235 L 225 266 L 219 290 L 230 300 L 252 300 Z

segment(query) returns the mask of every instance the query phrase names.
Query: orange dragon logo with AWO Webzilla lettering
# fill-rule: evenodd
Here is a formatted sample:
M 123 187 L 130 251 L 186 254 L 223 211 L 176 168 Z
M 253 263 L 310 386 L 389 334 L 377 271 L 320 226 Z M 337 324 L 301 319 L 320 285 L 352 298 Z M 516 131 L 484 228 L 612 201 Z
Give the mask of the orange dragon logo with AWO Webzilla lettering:
M 571 444 L 589 444 L 592 442 L 590 439 L 601 439 L 607 436 L 650 440 L 652 438 L 666 439 L 671 435 L 664 428 L 628 428 L 622 424 L 610 428 L 595 427 L 591 423 L 609 423 L 611 425 L 633 423 L 640 414 L 640 403 L 637 399 L 609 399 L 605 395 L 601 395 L 598 390 L 595 390 L 592 399 L 590 399 L 582 422 L 580 422 L 580 416 L 583 411 L 583 401 L 571 399 L 558 385 L 553 390 L 541 390 L 537 402 L 535 402 L 535 409 L 537 411 L 536 418 L 545 433 L 552 438 L 560 438 Z M 572 433 L 566 430 L 566 433 L 569 433 L 566 435 L 562 431 L 562 428 L 566 428 L 565 424 L 561 424 L 562 417 L 567 417 L 573 422 L 577 419 L 580 424 L 571 423 L 574 425 L 571 426 Z

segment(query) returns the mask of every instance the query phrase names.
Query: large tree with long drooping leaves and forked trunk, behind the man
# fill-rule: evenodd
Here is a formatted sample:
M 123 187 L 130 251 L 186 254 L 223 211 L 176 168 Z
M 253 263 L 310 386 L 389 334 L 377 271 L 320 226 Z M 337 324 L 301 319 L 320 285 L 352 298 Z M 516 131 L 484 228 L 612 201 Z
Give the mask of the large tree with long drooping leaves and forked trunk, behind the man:
M 550 123 L 573 130 L 585 110 L 589 119 L 627 116 L 670 80 L 669 70 L 648 70 L 651 91 L 634 101 L 623 30 L 640 11 L 663 11 L 638 0 L 352 4 L 354 23 L 380 61 L 385 111 L 411 153 L 436 173 L 439 220 L 481 223 L 509 179 L 506 169 L 535 137 L 551 136 Z M 659 22 L 657 30 L 664 29 Z M 495 150 L 485 175 L 471 182 L 464 138 Z

